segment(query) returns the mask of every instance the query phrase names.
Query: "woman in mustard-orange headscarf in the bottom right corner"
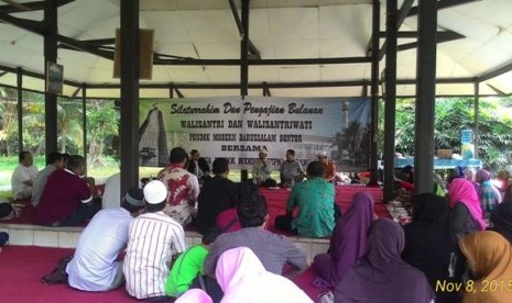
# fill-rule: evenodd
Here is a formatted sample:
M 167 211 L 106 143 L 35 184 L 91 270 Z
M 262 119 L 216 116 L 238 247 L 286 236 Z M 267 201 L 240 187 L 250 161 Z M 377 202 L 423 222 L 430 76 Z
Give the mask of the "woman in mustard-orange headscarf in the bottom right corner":
M 462 290 L 462 303 L 512 302 L 512 250 L 510 243 L 495 232 L 478 232 L 459 242 L 468 267 L 478 279 Z

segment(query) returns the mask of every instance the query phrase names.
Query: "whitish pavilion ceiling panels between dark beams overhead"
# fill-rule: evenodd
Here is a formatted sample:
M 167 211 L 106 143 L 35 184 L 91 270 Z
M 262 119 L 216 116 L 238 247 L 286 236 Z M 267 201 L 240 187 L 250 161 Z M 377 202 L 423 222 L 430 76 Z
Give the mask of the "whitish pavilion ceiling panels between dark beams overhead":
M 455 2 L 455 0 L 439 1 Z M 12 2 L 12 1 L 7 1 Z M 20 4 L 31 2 L 18 0 Z M 118 85 L 112 77 L 112 53 L 116 29 L 120 26 L 120 0 L 65 1 L 58 9 L 58 33 L 87 47 L 104 50 L 101 57 L 86 52 L 61 47 L 58 64 L 69 80 L 64 94 L 76 91 L 73 83 L 87 83 L 87 96 L 118 98 L 116 88 L 95 88 Z M 233 1 L 240 15 L 240 1 Z M 381 1 L 381 32 L 385 32 L 385 1 Z M 460 2 L 460 1 L 458 1 Z M 240 59 L 240 33 L 228 0 L 141 0 L 140 27 L 154 29 L 156 59 L 173 64 L 153 66 L 152 80 L 141 83 L 162 85 L 159 89 L 141 89 L 142 98 L 167 98 L 174 83 L 185 97 L 239 96 L 237 65 L 211 65 L 207 59 Z M 403 1 L 399 1 L 399 8 Z M 29 5 L 29 4 L 28 4 Z M 15 7 L 11 7 L 17 10 Z M 41 21 L 43 11 L 9 12 L 0 7 L 0 20 L 9 14 Z M 371 0 L 252 0 L 249 37 L 262 60 L 327 59 L 368 57 L 372 23 Z M 403 35 L 414 36 L 417 16 L 410 16 L 400 27 Z M 512 93 L 512 1 L 486 0 L 446 8 L 438 11 L 439 38 L 437 45 L 438 96 L 473 94 L 479 81 L 481 94 Z M 449 38 L 451 37 L 451 38 Z M 98 40 L 105 40 L 98 47 Z M 96 42 L 96 45 L 95 45 Z M 384 38 L 381 38 L 381 45 Z M 397 53 L 397 96 L 415 94 L 415 37 L 401 37 Z M 68 44 L 67 44 L 68 45 Z M 84 44 L 80 44 L 84 45 Z M 110 48 L 109 48 L 110 47 Z M 9 23 L 0 23 L 0 85 L 17 86 L 17 75 L 10 68 L 21 67 L 36 74 L 44 72 L 43 37 Z M 400 49 L 400 47 L 399 47 Z M 100 53 L 100 52 L 98 52 Z M 110 55 L 108 55 L 110 54 Z M 171 56 L 171 57 L 170 57 Z M 368 57 L 369 58 L 369 57 Z M 177 61 L 181 60 L 181 61 Z M 192 64 L 193 61 L 196 61 Z M 9 72 L 2 75 L 1 70 Z M 384 60 L 380 61 L 380 70 Z M 494 72 L 504 71 L 495 76 Z M 261 96 L 266 82 L 273 97 L 351 97 L 364 93 L 361 82 L 370 81 L 370 60 L 353 64 L 329 64 L 328 60 L 308 65 L 257 65 L 249 67 L 250 96 Z M 494 77 L 495 76 L 495 77 Z M 457 81 L 457 83 L 448 83 Z M 334 83 L 338 87 L 299 87 L 303 82 Z M 298 83 L 296 88 L 285 88 Z M 353 83 L 350 86 L 349 83 Z M 210 88 L 199 88 L 201 85 Z M 221 85 L 215 87 L 215 85 Z M 23 87 L 44 91 L 43 79 L 23 77 Z M 368 89 L 369 90 L 369 89 Z

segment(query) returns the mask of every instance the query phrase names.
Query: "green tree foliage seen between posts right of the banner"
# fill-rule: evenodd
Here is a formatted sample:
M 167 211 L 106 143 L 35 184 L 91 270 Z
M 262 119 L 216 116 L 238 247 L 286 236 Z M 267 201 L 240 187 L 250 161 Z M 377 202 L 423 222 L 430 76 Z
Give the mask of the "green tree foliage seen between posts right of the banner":
M 508 102 L 504 100 L 504 102 Z M 504 103 L 506 104 L 506 103 Z M 512 160 L 512 119 L 498 100 L 480 100 L 478 156 L 493 169 Z M 415 110 L 413 100 L 396 103 L 396 150 L 414 155 Z M 475 130 L 473 100 L 469 98 L 436 100 L 434 148 L 451 148 L 460 154 L 462 130 Z

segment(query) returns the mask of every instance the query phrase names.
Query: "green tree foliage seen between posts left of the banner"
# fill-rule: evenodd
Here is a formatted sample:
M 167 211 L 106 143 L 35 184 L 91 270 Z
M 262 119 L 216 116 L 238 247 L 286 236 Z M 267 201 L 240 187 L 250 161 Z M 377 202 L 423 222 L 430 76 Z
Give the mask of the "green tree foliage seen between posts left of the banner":
M 57 98 L 57 147 L 61 153 L 81 155 L 84 144 L 89 150 L 89 165 L 102 166 L 105 156 L 112 156 L 112 136 L 119 133 L 119 112 L 111 100 L 87 100 L 86 131 L 84 143 L 81 101 Z M 44 155 L 45 112 L 44 94 L 23 91 L 22 94 L 23 149 L 34 155 Z M 10 157 L 18 154 L 18 92 L 0 87 L 0 155 Z

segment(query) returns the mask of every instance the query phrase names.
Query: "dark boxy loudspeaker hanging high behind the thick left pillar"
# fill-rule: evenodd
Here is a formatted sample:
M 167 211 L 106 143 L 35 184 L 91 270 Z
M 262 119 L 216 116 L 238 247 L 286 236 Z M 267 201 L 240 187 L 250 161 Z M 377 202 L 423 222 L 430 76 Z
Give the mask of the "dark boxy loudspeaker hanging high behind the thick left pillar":
M 154 30 L 139 30 L 139 79 L 151 80 L 153 75 Z M 113 78 L 121 77 L 121 30 L 116 30 Z

